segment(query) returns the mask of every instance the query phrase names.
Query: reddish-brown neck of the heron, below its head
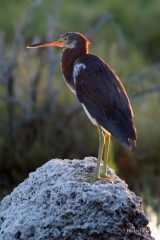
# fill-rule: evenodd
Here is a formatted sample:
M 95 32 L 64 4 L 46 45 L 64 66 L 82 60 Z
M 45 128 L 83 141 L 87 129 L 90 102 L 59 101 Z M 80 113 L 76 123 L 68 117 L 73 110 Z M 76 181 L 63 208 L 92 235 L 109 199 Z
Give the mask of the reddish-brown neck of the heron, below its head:
M 87 53 L 87 46 L 79 46 L 78 48 L 66 48 L 63 50 L 61 59 L 62 73 L 67 85 L 73 92 L 75 92 L 75 85 L 73 79 L 74 63 L 80 56 L 83 56 Z

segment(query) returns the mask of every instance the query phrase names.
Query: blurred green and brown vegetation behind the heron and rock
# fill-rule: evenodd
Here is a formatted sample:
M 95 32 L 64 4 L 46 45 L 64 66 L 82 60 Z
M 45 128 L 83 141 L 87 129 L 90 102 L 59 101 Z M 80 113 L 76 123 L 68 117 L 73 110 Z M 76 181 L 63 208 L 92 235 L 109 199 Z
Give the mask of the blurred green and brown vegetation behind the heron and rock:
M 120 76 L 135 113 L 137 147 L 113 139 L 110 164 L 160 212 L 159 9 L 157 0 L 0 0 L 1 197 L 49 159 L 97 155 L 97 130 L 63 82 L 61 50 L 25 48 L 78 31 Z

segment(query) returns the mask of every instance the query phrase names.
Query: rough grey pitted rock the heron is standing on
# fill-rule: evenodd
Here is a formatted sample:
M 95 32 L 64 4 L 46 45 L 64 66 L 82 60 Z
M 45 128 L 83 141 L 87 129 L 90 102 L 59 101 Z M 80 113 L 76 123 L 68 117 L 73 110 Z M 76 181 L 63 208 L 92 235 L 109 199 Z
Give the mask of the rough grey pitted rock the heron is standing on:
M 31 173 L 0 203 L 0 239 L 153 239 L 141 198 L 112 170 L 115 184 L 83 180 L 95 166 L 54 159 Z

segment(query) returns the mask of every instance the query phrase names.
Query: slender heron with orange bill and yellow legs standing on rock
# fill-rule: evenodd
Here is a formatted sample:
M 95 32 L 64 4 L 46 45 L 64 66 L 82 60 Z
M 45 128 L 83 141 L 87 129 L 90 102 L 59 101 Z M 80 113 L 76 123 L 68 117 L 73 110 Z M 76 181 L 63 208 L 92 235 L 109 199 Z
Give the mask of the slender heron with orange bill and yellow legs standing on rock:
M 99 133 L 96 179 L 106 179 L 110 135 L 124 147 L 131 148 L 129 140 L 136 142 L 133 111 L 124 86 L 115 72 L 99 57 L 88 53 L 89 41 L 81 33 L 69 32 L 59 40 L 39 43 L 28 48 L 62 47 L 61 67 L 66 84 L 77 95 L 87 116 Z M 103 172 L 100 173 L 104 154 Z

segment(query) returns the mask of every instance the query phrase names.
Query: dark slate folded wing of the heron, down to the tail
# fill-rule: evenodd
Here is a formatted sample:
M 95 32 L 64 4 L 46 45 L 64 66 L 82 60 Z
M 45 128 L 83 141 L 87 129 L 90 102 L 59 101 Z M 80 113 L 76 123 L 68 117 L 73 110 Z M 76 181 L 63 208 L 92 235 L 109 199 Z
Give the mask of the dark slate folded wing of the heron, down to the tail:
M 90 115 L 124 146 L 136 140 L 133 111 L 120 79 L 100 58 L 86 54 L 76 64 L 84 64 L 76 76 L 76 94 Z

